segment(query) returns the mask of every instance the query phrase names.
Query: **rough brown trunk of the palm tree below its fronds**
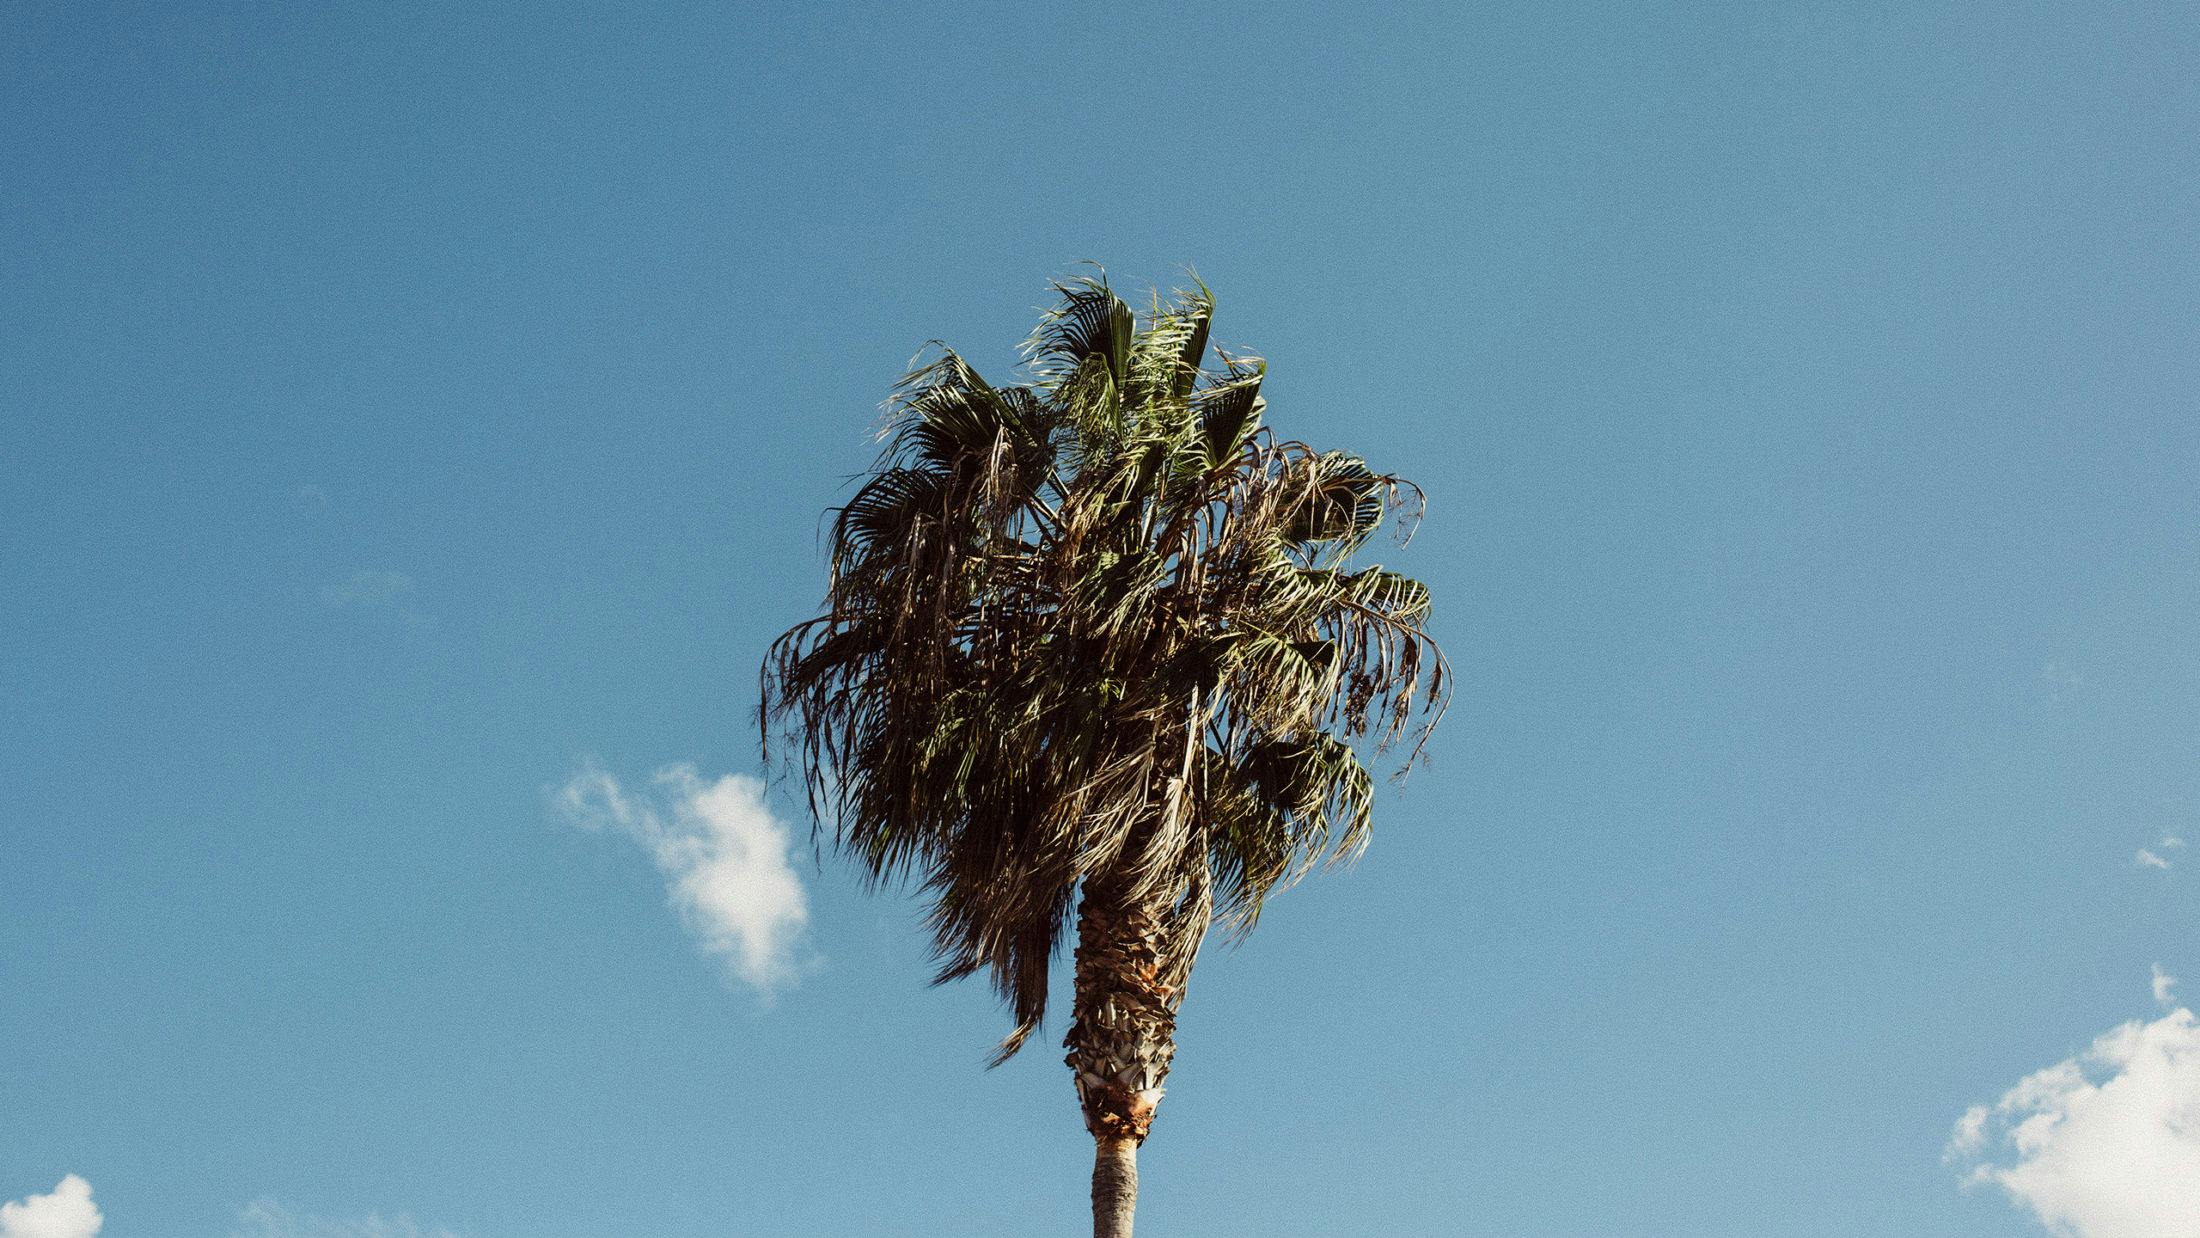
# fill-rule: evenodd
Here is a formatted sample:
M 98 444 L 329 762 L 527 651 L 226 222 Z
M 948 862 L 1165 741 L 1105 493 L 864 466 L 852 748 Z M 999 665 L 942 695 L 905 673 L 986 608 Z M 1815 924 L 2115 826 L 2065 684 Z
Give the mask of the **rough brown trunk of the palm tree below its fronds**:
M 1069 1069 L 1093 1137 L 1093 1238 L 1131 1238 L 1137 1146 L 1153 1128 L 1177 1053 L 1177 1003 L 1162 979 L 1162 917 L 1124 891 L 1087 886 L 1078 904 Z

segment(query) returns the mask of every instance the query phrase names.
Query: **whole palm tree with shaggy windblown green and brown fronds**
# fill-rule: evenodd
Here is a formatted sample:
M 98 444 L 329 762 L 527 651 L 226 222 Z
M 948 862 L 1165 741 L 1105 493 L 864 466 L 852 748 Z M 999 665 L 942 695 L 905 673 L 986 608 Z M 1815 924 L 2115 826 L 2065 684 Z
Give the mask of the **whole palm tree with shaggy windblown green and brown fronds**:
M 1428 589 L 1349 565 L 1388 512 L 1410 532 L 1410 482 L 1263 429 L 1265 363 L 1210 354 L 1206 286 L 1144 321 L 1104 277 L 1054 290 L 1027 383 L 939 347 L 895 389 L 759 723 L 873 884 L 922 882 L 937 979 L 990 972 L 997 1064 L 1076 908 L 1093 1234 L 1129 1238 L 1208 928 L 1366 847 L 1360 750 L 1419 754 L 1448 675 Z

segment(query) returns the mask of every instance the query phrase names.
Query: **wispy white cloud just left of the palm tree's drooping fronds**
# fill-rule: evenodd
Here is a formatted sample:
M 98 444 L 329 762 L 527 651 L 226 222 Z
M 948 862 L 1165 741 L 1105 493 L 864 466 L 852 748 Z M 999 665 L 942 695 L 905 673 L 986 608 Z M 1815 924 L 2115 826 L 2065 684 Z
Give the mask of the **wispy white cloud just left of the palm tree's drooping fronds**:
M 693 765 L 667 765 L 649 792 L 629 796 L 587 765 L 559 787 L 557 805 L 574 825 L 618 829 L 649 851 L 671 904 L 733 979 L 759 992 L 794 979 L 810 899 L 759 778 L 706 783 Z

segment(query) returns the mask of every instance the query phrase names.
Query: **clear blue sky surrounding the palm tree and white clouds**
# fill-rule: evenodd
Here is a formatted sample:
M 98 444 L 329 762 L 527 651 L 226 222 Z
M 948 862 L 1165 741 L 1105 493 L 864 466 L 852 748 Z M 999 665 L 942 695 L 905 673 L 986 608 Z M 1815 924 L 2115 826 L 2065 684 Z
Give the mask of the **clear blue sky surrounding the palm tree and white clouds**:
M 543 789 L 757 772 L 902 363 L 1005 372 L 1100 259 L 1428 488 L 1459 666 L 1373 853 L 1203 959 L 1142 1231 L 2028 1234 L 1949 1124 L 2200 976 L 2134 864 L 2200 827 L 2196 59 L 2182 4 L 9 4 L 0 1198 L 1085 1225 L 1058 1029 L 981 1071 L 911 902 L 805 855 L 759 1001 Z

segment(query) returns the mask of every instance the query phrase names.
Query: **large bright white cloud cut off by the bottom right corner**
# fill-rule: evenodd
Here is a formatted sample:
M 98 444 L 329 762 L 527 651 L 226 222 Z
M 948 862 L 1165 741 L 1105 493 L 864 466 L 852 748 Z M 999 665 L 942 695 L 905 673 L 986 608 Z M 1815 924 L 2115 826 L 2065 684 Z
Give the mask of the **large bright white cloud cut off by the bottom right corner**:
M 2171 1009 L 2103 1033 L 1969 1108 L 1947 1159 L 2061 1238 L 2200 1238 L 2200 1023 Z

